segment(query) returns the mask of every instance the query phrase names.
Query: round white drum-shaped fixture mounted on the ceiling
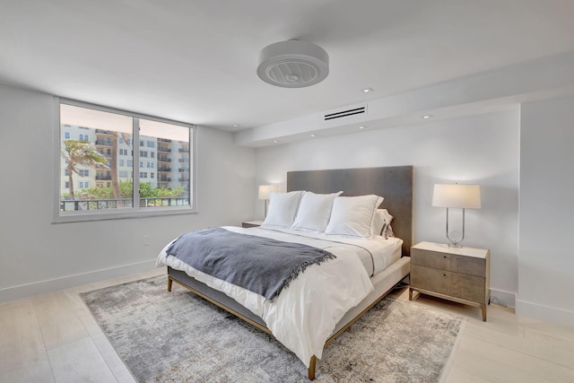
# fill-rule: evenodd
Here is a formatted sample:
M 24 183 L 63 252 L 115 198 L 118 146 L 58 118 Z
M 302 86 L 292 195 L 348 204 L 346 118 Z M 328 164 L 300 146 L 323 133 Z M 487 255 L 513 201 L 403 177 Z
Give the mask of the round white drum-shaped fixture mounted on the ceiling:
M 304 88 L 329 74 L 326 50 L 307 41 L 290 39 L 268 45 L 259 53 L 257 75 L 265 83 L 283 88 Z

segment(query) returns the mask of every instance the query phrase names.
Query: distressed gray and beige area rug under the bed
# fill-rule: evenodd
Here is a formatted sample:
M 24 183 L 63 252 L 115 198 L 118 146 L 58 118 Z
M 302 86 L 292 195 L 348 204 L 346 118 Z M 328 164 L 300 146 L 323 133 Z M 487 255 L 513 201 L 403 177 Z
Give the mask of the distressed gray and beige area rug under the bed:
M 301 382 L 282 344 L 159 276 L 80 294 L 138 382 Z M 317 382 L 438 382 L 465 319 L 381 300 L 317 360 Z

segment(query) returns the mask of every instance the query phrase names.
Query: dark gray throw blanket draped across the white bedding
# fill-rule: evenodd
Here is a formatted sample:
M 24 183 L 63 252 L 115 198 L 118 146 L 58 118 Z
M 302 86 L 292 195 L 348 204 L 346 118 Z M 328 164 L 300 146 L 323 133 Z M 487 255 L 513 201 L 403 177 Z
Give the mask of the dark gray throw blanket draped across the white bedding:
M 335 258 L 321 248 L 222 228 L 188 232 L 176 239 L 167 253 L 267 300 L 274 300 L 309 265 Z

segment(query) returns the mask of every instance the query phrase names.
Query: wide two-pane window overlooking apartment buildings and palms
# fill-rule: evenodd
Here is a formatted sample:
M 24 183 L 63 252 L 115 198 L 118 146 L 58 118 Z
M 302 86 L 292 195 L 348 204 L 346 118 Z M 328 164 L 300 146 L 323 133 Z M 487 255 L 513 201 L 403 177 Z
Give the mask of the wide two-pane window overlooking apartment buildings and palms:
M 72 100 L 61 100 L 59 109 L 56 221 L 195 211 L 193 126 Z M 134 151 L 134 145 L 147 150 Z M 157 158 L 157 166 L 140 157 Z M 182 177 L 183 164 L 188 171 Z M 144 167 L 157 168 L 157 177 Z

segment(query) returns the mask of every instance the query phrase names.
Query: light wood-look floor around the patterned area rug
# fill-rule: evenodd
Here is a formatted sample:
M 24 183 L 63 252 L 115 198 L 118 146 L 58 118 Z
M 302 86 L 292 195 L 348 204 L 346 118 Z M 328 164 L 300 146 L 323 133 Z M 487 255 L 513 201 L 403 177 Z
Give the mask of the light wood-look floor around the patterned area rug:
M 78 297 L 165 269 L 0 304 L 0 382 L 134 382 Z M 407 289 L 393 293 L 408 300 Z M 574 326 L 419 297 L 412 304 L 468 318 L 447 382 L 574 382 Z

